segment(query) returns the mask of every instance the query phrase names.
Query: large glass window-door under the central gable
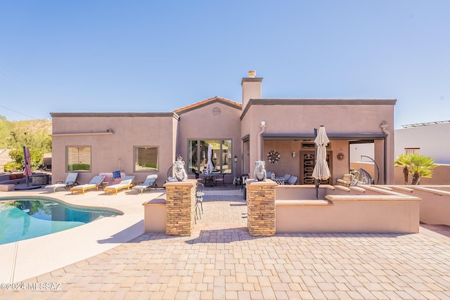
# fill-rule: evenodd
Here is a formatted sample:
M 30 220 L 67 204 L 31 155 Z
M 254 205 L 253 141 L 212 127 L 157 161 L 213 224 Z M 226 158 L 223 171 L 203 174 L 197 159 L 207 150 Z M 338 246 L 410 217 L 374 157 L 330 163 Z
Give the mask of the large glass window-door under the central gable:
M 211 153 L 208 152 L 211 145 Z M 189 141 L 188 173 L 199 174 L 207 168 L 208 159 L 212 162 L 214 173 L 229 173 L 233 169 L 231 140 L 222 141 Z

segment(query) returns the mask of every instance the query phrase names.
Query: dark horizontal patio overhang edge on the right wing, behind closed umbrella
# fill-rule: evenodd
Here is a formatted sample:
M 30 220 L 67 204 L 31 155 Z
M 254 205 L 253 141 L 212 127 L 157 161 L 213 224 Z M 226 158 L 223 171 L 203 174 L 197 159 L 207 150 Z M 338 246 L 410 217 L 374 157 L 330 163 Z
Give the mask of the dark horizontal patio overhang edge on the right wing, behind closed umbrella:
M 383 140 L 385 133 L 327 133 L 330 140 L 335 141 L 372 141 Z M 314 140 L 314 132 L 310 133 L 262 133 L 266 141 L 311 141 Z

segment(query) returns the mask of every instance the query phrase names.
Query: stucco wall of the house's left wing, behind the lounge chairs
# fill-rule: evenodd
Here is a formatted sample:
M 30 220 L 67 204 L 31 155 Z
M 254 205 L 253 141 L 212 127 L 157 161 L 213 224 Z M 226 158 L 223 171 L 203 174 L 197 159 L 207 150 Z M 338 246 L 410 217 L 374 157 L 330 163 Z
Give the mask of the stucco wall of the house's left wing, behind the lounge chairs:
M 53 113 L 52 182 L 67 176 L 66 146 L 91 146 L 91 171 L 79 174 L 77 181 L 87 183 L 103 172 L 120 170 L 144 181 L 148 172 L 134 172 L 134 146 L 158 146 L 158 185 L 167 179 L 176 150 L 176 123 L 173 113 Z M 112 131 L 113 134 L 89 133 Z M 85 134 L 82 134 L 85 133 Z

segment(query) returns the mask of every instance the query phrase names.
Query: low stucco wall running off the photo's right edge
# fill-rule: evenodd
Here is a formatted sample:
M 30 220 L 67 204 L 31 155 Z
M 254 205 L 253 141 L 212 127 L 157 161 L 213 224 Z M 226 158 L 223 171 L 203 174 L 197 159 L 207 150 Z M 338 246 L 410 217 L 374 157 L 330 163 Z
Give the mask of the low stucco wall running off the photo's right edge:
M 450 185 L 390 185 L 392 190 L 420 197 L 420 222 L 450 226 Z

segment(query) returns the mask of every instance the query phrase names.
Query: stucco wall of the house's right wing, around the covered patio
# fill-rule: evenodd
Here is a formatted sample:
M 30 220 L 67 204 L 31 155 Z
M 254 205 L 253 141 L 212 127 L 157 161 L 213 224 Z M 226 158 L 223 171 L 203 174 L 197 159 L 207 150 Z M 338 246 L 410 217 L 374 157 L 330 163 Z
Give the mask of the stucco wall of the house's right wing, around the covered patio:
M 295 105 L 286 103 L 295 103 Z M 375 105 L 375 103 L 384 104 Z M 387 124 L 387 131 L 390 132 L 390 135 L 387 136 L 387 166 L 393 166 L 394 103 L 395 100 L 250 100 L 248 107 L 244 110 L 241 128 L 241 136 L 250 136 L 250 176 L 252 176 L 254 170 L 255 160 L 257 160 L 258 157 L 265 159 L 267 152 L 266 149 L 264 149 L 263 153 L 259 153 L 257 145 L 257 140 L 261 136 L 262 131 L 264 131 L 264 134 L 311 133 L 312 136 L 314 135 L 314 128 L 319 127 L 320 125 L 326 127 L 326 132 L 329 136 L 333 134 L 352 135 L 357 133 L 382 134 L 383 131 L 380 128 L 380 125 L 385 122 Z M 262 121 L 266 124 L 265 128 L 260 126 Z M 278 142 L 279 141 L 275 141 L 275 143 Z M 264 145 L 267 145 L 266 143 L 268 143 L 268 141 L 265 141 Z M 380 141 L 380 143 L 384 148 L 383 141 Z M 331 145 L 333 147 L 333 174 L 338 176 L 338 172 L 340 174 L 347 173 L 349 168 L 348 145 L 342 144 L 342 142 L 337 143 L 337 141 L 333 140 L 331 140 Z M 293 147 L 295 147 L 295 145 Z M 347 155 L 345 155 L 344 160 L 338 161 L 338 159 L 335 159 L 335 155 L 338 154 L 338 151 L 341 148 L 343 151 L 347 152 Z M 379 146 L 379 143 L 375 145 L 375 148 L 375 155 L 377 155 L 375 159 L 380 159 L 379 153 L 381 147 Z M 276 150 L 278 150 L 278 152 L 292 152 L 292 149 L 280 149 Z M 292 157 L 286 157 L 286 159 L 289 159 L 288 162 L 293 162 L 293 165 L 297 164 Z M 278 173 L 284 174 L 285 171 L 281 170 L 278 171 Z M 380 173 L 380 181 L 383 183 L 383 170 L 380 171 Z M 392 183 L 394 181 L 393 168 L 387 169 L 386 174 L 386 182 Z

